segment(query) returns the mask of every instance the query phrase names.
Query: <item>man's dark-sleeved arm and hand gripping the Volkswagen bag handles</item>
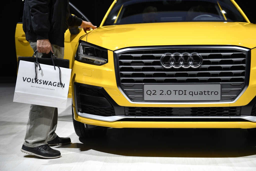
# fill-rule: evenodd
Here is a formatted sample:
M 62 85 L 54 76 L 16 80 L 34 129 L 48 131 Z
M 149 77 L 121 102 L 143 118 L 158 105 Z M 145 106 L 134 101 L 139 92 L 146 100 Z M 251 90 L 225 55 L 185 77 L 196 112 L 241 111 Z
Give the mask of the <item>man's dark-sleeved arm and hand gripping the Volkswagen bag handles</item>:
M 51 43 L 48 40 L 50 30 L 49 4 L 50 0 L 28 0 L 30 7 L 33 30 L 37 35 L 37 52 L 52 52 Z

